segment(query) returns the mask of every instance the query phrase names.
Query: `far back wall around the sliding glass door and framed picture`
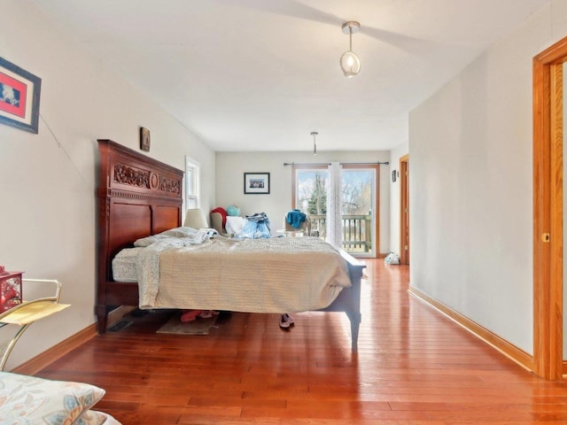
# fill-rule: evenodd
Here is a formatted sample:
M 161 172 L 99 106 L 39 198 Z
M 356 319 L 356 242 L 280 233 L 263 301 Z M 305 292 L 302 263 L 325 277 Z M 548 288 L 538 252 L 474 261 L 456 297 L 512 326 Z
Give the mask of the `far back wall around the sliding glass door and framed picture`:
M 272 232 L 283 227 L 283 217 L 291 209 L 291 166 L 283 163 L 384 162 L 389 151 L 310 152 L 217 152 L 215 206 L 240 207 L 242 215 L 267 213 Z M 269 195 L 245 195 L 244 173 L 270 173 Z M 380 166 L 380 252 L 390 247 L 390 166 Z

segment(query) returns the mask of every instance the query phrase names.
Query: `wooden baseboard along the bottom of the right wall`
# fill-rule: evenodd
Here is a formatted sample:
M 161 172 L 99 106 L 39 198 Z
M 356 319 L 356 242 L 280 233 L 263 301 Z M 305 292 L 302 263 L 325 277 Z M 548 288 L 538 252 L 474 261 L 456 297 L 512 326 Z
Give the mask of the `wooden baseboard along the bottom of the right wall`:
M 422 300 L 424 303 L 431 305 L 440 313 L 445 314 L 449 319 L 461 325 L 462 328 L 469 330 L 470 333 L 472 333 L 475 336 L 478 336 L 478 338 L 485 341 L 486 344 L 493 346 L 493 348 L 504 354 L 509 359 L 514 360 L 521 367 L 524 367 L 530 372 L 533 371 L 532 355 L 517 348 L 516 345 L 510 344 L 508 341 L 501 338 L 501 336 L 498 336 L 493 332 L 491 332 L 490 330 L 483 328 L 475 321 L 471 321 L 469 318 L 463 316 L 461 313 L 455 312 L 452 308 L 439 302 L 437 299 L 431 298 L 427 294 L 423 293 L 421 290 L 418 290 L 410 285 L 408 292 L 414 297 Z M 564 370 L 565 369 L 563 368 L 563 371 Z

